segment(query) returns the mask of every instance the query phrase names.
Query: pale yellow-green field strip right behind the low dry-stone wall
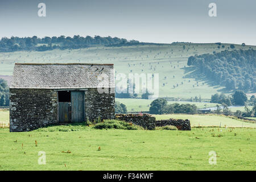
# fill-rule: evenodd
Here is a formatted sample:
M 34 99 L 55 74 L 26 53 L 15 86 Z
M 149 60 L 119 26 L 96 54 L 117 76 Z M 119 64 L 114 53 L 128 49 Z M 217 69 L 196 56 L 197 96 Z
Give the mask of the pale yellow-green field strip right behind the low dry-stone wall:
M 242 122 L 237 119 L 223 117 L 221 115 L 203 115 L 203 114 L 165 114 L 154 115 L 156 120 L 160 119 L 189 119 L 191 127 L 194 126 L 222 126 L 224 127 L 252 127 L 256 128 L 256 123 Z

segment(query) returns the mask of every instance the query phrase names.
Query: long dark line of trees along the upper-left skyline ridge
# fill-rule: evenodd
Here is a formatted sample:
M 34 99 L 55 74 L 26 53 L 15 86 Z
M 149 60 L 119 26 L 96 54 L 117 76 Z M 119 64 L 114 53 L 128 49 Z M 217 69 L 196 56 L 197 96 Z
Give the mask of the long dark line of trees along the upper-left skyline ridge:
M 38 38 L 37 36 L 19 38 L 12 36 L 11 38 L 2 38 L 0 40 L 0 52 L 13 52 L 21 50 L 35 50 L 35 51 L 48 51 L 52 49 L 67 49 L 67 48 L 85 48 L 94 45 L 126 45 L 126 44 L 138 44 L 137 40 L 126 40 L 123 38 L 101 37 L 101 36 L 80 36 L 74 35 L 65 37 L 61 35 L 59 37 L 46 36 L 44 38 Z

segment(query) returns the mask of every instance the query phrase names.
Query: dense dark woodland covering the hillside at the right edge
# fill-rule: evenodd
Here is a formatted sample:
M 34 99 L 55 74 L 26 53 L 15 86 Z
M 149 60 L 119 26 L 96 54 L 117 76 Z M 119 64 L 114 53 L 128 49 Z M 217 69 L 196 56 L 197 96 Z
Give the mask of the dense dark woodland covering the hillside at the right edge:
M 188 66 L 228 90 L 256 91 L 256 50 L 221 51 L 190 56 Z

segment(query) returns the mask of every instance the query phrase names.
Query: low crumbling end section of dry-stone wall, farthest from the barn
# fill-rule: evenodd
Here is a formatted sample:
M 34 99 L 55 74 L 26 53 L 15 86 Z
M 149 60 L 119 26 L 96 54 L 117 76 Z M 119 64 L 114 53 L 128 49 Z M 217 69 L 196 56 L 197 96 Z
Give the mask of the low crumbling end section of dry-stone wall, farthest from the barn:
M 188 119 L 166 119 L 166 120 L 160 120 L 156 121 L 156 126 L 162 127 L 172 125 L 176 126 L 178 130 L 191 130 L 190 121 Z

